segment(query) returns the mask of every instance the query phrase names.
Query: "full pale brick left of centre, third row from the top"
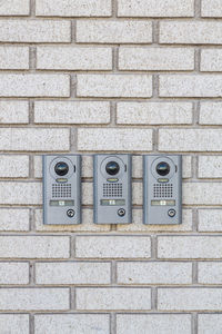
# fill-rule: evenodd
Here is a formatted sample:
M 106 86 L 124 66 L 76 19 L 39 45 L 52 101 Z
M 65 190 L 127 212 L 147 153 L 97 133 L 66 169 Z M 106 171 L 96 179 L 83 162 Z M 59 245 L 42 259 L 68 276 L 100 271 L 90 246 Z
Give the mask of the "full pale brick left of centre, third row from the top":
M 39 47 L 37 68 L 48 70 L 111 70 L 111 48 Z

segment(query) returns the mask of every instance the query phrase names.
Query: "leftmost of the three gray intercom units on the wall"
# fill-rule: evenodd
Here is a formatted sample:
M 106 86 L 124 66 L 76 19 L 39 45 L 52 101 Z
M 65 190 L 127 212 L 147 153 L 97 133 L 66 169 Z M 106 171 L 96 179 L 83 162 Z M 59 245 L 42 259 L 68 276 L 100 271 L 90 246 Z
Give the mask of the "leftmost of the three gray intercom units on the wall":
M 81 157 L 43 156 L 43 223 L 81 223 Z

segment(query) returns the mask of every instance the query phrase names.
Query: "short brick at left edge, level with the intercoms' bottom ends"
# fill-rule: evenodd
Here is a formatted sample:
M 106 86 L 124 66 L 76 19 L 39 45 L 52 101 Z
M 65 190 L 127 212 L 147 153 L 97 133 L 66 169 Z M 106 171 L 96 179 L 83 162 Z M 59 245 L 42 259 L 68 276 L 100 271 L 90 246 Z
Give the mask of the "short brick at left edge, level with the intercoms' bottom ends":
M 0 230 L 29 230 L 29 209 L 1 208 Z

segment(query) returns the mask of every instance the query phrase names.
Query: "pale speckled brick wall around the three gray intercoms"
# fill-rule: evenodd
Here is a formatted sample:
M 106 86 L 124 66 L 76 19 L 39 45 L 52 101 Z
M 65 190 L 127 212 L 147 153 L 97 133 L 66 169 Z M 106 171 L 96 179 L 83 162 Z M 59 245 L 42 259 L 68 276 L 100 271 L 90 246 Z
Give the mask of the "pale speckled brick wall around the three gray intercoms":
M 0 334 L 222 333 L 222 0 L 0 0 Z M 93 153 L 133 224 L 92 223 Z M 83 155 L 83 224 L 42 224 L 41 155 Z M 141 154 L 183 155 L 183 224 L 142 224 Z M 153 222 L 154 223 L 154 222 Z

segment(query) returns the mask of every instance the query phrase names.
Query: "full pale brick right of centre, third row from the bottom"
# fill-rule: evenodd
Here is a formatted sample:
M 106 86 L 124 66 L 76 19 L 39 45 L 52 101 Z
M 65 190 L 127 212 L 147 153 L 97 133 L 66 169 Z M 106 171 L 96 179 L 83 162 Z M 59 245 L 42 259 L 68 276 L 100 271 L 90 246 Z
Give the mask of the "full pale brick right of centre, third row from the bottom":
M 119 284 L 191 284 L 191 263 L 121 262 L 117 266 Z

